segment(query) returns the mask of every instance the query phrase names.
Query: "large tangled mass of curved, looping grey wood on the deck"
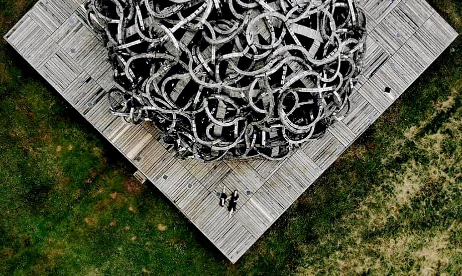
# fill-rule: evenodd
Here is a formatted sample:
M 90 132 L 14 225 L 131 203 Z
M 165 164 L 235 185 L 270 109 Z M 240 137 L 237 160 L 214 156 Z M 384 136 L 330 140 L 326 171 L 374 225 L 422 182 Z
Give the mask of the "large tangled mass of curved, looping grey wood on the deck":
M 322 135 L 361 72 L 356 0 L 91 0 L 119 87 L 181 157 L 280 159 Z

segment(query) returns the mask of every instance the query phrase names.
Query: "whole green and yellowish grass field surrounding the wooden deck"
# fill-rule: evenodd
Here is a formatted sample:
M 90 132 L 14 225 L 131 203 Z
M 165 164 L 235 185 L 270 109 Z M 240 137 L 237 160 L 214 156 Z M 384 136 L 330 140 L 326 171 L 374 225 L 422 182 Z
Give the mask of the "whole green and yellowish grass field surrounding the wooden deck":
M 0 35 L 34 1 L 0 0 Z M 430 4 L 459 33 L 462 3 Z M 0 43 L 0 275 L 458 274 L 462 39 L 235 265 Z

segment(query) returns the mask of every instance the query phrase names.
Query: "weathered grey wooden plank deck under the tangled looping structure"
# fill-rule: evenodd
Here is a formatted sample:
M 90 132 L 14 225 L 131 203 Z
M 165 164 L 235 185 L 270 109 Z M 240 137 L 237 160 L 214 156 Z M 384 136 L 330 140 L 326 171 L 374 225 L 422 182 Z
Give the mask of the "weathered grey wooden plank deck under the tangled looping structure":
M 116 84 L 82 2 L 40 0 L 5 39 L 233 263 L 457 36 L 424 0 L 361 1 L 368 51 L 351 112 L 283 161 L 202 164 L 174 158 L 151 124 L 108 113 L 105 91 Z M 241 194 L 230 219 L 218 206 L 223 184 Z

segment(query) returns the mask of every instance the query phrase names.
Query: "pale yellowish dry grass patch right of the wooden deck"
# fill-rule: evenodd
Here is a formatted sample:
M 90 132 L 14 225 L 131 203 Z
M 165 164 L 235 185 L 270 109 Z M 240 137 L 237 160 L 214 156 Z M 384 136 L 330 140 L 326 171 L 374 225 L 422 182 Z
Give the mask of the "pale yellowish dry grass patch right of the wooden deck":
M 405 154 L 414 157 L 396 170 L 383 172 L 384 182 L 368 192 L 358 211 L 337 221 L 336 227 L 350 233 L 337 238 L 338 250 L 320 263 L 303 267 L 301 274 L 328 271 L 346 275 L 435 275 L 462 271 L 460 243 L 450 240 L 460 238 L 462 233 L 457 216 L 462 207 L 462 94 L 458 91 L 453 88 L 447 99 L 434 105 L 431 116 L 409 127 L 394 143 L 402 152 L 391 149 L 383 166 Z M 447 113 L 450 116 L 435 133 L 424 132 Z M 436 204 L 441 206 L 432 206 Z M 413 212 L 423 212 L 421 219 L 426 219 L 436 210 L 451 210 L 454 216 L 444 217 L 444 225 L 416 227 Z M 306 255 L 308 259 L 316 258 L 309 251 Z

